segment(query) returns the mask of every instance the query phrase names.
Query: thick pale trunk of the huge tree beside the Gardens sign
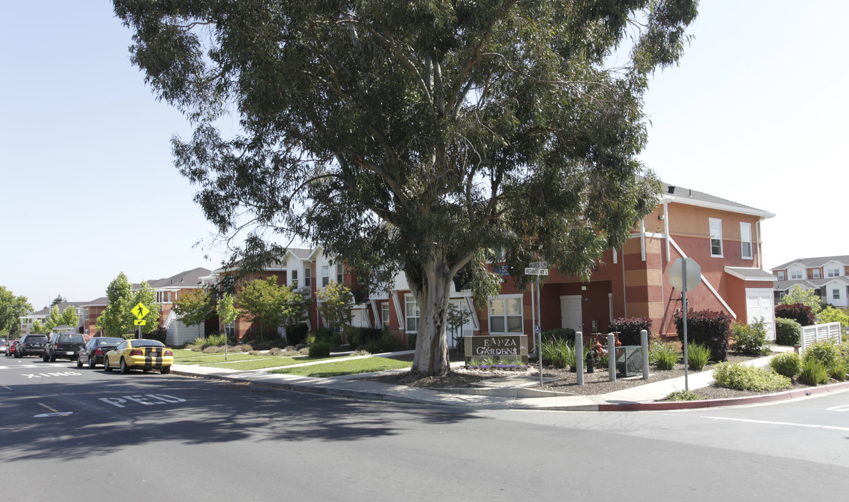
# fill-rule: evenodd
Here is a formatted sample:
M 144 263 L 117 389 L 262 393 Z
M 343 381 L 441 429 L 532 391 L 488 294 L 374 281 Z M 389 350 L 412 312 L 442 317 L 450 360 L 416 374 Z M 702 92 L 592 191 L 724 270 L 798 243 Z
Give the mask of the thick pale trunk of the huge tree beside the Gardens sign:
M 408 272 L 407 278 L 419 304 L 419 330 L 410 373 L 417 376 L 447 375 L 451 367 L 445 329 L 453 285 L 447 263 L 441 257 L 435 257 L 422 263 L 419 277 L 411 275 L 414 274 Z

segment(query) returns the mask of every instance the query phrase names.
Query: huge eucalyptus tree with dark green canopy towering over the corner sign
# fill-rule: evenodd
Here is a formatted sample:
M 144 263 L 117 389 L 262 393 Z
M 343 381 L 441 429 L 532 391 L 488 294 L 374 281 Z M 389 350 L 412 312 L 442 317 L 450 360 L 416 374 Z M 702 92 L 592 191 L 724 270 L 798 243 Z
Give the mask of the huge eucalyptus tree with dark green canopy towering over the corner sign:
M 243 262 L 300 238 L 419 303 L 413 373 L 448 371 L 447 301 L 506 252 L 586 275 L 654 205 L 642 96 L 695 0 L 115 0 L 132 62 L 194 123 L 195 200 Z M 239 118 L 223 137 L 216 119 Z M 245 261 L 246 260 L 246 261 Z M 385 279 L 385 277 L 384 277 Z M 374 281 L 377 282 L 377 281 Z M 495 286 L 497 287 L 497 286 Z

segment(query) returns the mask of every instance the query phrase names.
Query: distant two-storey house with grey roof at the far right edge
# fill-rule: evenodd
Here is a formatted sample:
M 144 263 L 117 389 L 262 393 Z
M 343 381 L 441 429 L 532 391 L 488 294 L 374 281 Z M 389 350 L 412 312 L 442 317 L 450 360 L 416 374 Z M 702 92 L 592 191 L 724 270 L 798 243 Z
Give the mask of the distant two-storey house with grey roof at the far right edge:
M 838 308 L 849 307 L 849 255 L 838 257 L 798 258 L 771 272 L 778 279 L 774 287 L 775 301 L 779 302 L 795 285 L 804 290 L 814 290 L 823 303 Z

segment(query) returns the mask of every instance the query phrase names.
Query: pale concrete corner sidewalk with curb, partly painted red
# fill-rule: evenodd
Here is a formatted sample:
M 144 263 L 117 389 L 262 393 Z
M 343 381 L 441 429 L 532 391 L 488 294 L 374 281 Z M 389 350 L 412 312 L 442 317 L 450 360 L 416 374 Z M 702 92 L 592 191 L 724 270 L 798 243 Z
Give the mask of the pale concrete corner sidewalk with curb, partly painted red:
M 369 356 L 366 356 L 369 357 Z M 374 356 L 371 356 L 374 357 Z M 751 360 L 748 364 L 767 366 L 772 356 Z M 462 365 L 462 363 L 459 363 Z M 299 364 L 301 365 L 301 364 Z M 302 364 L 307 365 L 307 364 Z M 289 366 L 291 367 L 291 366 Z M 777 392 L 766 396 L 716 399 L 711 401 L 660 402 L 671 392 L 683 390 L 684 379 L 655 381 L 621 391 L 597 396 L 564 396 L 554 392 L 536 391 L 522 386 L 481 387 L 440 391 L 412 386 L 396 386 L 376 381 L 354 380 L 363 375 L 345 375 L 331 378 L 314 378 L 297 375 L 267 373 L 268 368 L 241 371 L 238 369 L 210 368 L 174 364 L 171 373 L 220 381 L 246 382 L 295 392 L 312 392 L 343 398 L 373 399 L 395 403 L 430 404 L 468 409 L 548 409 L 564 411 L 638 411 L 652 409 L 692 409 L 735 404 L 766 403 L 820 392 L 849 389 L 849 382 L 830 386 L 816 386 L 801 391 Z M 690 390 L 709 386 L 713 382 L 711 371 L 689 375 Z

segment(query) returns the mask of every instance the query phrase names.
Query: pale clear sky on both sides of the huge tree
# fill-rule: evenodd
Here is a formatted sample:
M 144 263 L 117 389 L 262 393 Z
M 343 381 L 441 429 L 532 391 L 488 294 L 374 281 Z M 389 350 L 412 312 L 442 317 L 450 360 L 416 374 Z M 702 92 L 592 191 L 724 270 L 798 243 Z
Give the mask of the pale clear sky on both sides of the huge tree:
M 845 0 L 702 2 L 645 99 L 666 183 L 755 206 L 765 268 L 849 254 Z M 183 117 L 130 65 L 111 3 L 0 7 L 0 285 L 41 308 L 195 267 L 213 228 L 171 163 Z M 204 256 L 211 253 L 211 260 Z

